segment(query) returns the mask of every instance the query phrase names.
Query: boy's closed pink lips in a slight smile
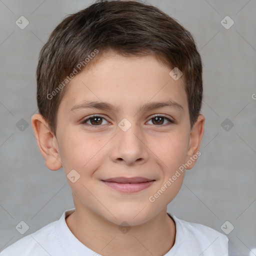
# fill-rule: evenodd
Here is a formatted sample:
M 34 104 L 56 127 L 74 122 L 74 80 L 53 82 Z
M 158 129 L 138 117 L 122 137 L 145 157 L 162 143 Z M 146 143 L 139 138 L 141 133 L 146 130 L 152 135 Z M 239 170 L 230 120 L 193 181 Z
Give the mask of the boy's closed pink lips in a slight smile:
M 125 193 L 138 192 L 149 187 L 155 179 L 145 177 L 114 177 L 101 180 L 107 186 Z

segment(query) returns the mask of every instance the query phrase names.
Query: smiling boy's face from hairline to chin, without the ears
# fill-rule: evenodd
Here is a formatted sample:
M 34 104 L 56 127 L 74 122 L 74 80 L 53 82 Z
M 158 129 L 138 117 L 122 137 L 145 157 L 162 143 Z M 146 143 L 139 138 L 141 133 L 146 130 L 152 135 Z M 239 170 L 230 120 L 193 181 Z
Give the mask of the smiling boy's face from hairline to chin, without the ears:
M 172 177 L 189 159 L 190 126 L 182 79 L 174 80 L 170 70 L 152 55 L 111 53 L 69 82 L 58 108 L 56 141 L 64 172 L 74 181 L 67 178 L 76 208 L 135 225 L 177 194 L 184 172 Z M 92 101 L 98 104 L 86 106 Z M 152 105 L 159 102 L 172 103 Z M 105 181 L 115 177 L 151 181 Z

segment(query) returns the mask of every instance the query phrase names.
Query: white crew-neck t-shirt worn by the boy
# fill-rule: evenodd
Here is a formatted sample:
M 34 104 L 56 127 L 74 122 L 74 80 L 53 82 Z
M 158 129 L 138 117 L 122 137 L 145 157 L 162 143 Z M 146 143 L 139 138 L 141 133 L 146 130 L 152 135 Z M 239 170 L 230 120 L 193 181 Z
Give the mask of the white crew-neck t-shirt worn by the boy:
M 74 208 L 64 211 L 59 220 L 17 240 L 0 256 L 101 256 L 81 243 L 68 228 L 65 218 L 73 211 Z M 224 234 L 167 214 L 175 221 L 176 237 L 163 256 L 228 256 L 228 238 Z

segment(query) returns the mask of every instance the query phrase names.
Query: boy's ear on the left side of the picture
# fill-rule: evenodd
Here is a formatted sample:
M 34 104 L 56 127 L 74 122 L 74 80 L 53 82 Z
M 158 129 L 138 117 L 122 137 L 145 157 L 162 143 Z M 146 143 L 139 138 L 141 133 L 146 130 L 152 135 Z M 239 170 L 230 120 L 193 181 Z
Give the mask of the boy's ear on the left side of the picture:
M 56 136 L 48 128 L 48 123 L 41 114 L 33 114 L 31 125 L 35 134 L 37 145 L 45 160 L 45 165 L 50 170 L 58 170 L 62 167 Z

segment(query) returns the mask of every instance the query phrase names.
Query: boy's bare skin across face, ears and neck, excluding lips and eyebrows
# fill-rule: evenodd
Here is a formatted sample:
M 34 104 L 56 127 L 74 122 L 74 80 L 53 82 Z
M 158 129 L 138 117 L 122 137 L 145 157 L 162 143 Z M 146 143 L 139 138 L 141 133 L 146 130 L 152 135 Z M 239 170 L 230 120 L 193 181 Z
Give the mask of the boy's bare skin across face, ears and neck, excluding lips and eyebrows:
M 166 209 L 181 187 L 184 172 L 154 202 L 148 198 L 198 152 L 204 116 L 200 114 L 190 129 L 182 76 L 174 80 L 170 70 L 153 55 L 123 57 L 108 52 L 69 82 L 57 112 L 56 136 L 40 114 L 32 116 L 46 166 L 63 167 L 65 175 L 75 169 L 80 175 L 75 182 L 67 178 L 75 206 L 66 218 L 67 226 L 79 241 L 104 256 L 163 255 L 174 244 L 175 223 Z M 167 99 L 183 110 L 169 106 L 139 110 L 144 103 Z M 105 101 L 119 109 L 70 111 L 87 100 Z M 92 114 L 103 117 L 99 124 L 93 118 L 87 125 L 82 123 Z M 175 123 L 164 118 L 157 124 L 156 114 Z M 118 127 L 123 118 L 131 124 L 126 131 Z M 123 193 L 101 181 L 116 176 L 155 181 L 141 191 Z M 118 228 L 123 221 L 130 227 L 126 233 Z

